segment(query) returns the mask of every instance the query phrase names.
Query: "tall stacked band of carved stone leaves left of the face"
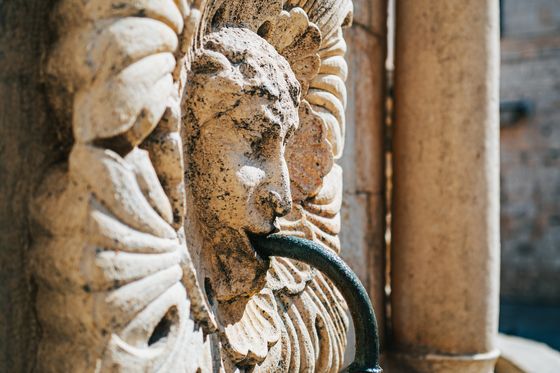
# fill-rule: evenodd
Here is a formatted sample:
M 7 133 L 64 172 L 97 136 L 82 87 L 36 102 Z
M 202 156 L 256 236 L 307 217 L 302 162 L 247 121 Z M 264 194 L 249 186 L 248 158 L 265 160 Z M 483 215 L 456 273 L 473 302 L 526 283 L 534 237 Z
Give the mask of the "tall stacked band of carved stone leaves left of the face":
M 190 45 L 197 17 L 185 0 L 57 6 L 62 36 L 46 72 L 74 146 L 33 204 L 41 371 L 194 372 L 210 364 L 191 320 L 191 309 L 201 319 L 207 311 L 181 226 L 174 81 L 184 56 L 177 34 Z M 212 319 L 205 322 L 212 331 Z M 197 356 L 184 359 L 189 349 Z

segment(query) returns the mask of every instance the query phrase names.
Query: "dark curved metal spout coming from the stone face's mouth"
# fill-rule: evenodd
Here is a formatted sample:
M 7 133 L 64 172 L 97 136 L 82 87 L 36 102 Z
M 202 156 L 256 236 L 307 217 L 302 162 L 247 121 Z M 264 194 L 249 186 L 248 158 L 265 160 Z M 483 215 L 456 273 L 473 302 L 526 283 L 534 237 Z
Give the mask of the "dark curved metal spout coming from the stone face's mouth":
M 356 355 L 348 372 L 382 372 L 379 366 L 379 336 L 371 301 L 362 283 L 338 255 L 313 241 L 273 234 L 251 238 L 263 257 L 282 256 L 307 263 L 323 272 L 341 292 L 350 308 L 356 331 Z

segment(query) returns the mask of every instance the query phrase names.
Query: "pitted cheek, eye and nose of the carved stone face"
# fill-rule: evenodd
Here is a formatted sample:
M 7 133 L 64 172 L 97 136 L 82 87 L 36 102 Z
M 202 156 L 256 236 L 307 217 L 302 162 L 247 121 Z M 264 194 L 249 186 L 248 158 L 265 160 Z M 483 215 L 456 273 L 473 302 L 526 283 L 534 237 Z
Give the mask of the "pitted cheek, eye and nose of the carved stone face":
M 295 110 L 284 108 L 284 110 Z M 278 102 L 266 100 L 254 112 L 233 119 L 227 115 L 200 129 L 194 164 L 197 203 L 208 228 L 227 226 L 257 234 L 274 229 L 275 218 L 291 208 L 284 150 L 294 128 L 293 116 L 283 123 Z M 211 186 L 211 187 L 207 187 Z

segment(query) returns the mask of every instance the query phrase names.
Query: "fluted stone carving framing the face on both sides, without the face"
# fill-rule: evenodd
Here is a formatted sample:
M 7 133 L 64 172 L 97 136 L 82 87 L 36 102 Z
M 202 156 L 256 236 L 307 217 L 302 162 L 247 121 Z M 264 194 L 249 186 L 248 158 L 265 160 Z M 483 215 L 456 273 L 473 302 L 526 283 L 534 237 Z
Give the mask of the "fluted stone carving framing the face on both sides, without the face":
M 342 177 L 334 160 L 343 147 L 347 70 L 340 28 L 351 19 L 351 2 L 61 0 L 52 18 L 60 37 L 45 76 L 72 149 L 32 203 L 40 370 L 338 371 L 346 306 L 320 273 L 283 258 L 258 261 L 245 240 L 233 249 L 245 245 L 252 260 L 238 270 L 259 279 L 255 289 L 216 301 L 209 293 L 217 283 L 198 281 L 204 245 L 191 234 L 197 223 L 184 157 L 193 154 L 183 149 L 190 127 L 182 124 L 189 74 L 220 63 L 191 66 L 207 35 L 224 27 L 245 29 L 242 39 L 260 35 L 301 88 L 274 76 L 278 92 L 257 92 L 274 101 L 287 89 L 286 102 L 297 101 L 293 118 L 279 116 L 280 124 L 297 123 L 279 157 L 290 178 L 274 216 L 291 202 L 282 233 L 338 252 Z M 220 114 L 216 98 L 200 118 Z M 249 110 L 251 100 L 241 101 Z M 270 174 L 278 178 L 282 167 Z

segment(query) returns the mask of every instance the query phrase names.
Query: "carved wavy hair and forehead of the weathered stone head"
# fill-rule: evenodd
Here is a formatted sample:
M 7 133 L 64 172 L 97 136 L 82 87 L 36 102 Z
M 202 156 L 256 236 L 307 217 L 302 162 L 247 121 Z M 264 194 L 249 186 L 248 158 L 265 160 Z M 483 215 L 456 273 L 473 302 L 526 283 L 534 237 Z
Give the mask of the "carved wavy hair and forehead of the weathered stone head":
M 300 92 L 289 63 L 268 42 L 250 30 L 223 28 L 205 38 L 194 58 L 187 111 L 193 125 L 263 110 L 294 125 Z

